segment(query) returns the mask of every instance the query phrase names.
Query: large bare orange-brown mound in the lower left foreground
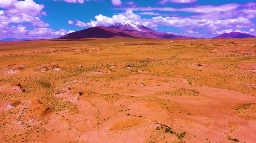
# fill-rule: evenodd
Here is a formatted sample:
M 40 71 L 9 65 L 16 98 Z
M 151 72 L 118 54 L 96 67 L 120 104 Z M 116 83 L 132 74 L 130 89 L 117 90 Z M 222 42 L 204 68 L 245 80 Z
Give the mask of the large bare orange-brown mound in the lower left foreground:
M 27 113 L 24 116 L 25 120 L 42 120 L 46 114 L 53 112 L 53 110 L 48 107 L 43 105 L 43 103 L 40 100 L 34 99 L 30 106 L 27 108 Z

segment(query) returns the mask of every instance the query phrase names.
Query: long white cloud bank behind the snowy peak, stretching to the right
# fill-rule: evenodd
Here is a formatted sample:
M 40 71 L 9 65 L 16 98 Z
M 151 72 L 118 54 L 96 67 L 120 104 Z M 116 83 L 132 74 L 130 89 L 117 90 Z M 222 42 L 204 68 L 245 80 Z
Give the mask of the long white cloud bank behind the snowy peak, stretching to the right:
M 245 19 L 245 18 L 208 20 L 208 19 L 195 19 L 195 18 L 191 19 L 191 18 L 156 16 L 150 19 L 142 19 L 141 16 L 133 13 L 133 11 L 131 10 L 120 13 L 118 15 L 113 15 L 112 17 L 107 17 L 100 14 L 95 16 L 94 18 L 96 20 L 91 20 L 88 23 L 77 20 L 75 25 L 79 27 L 94 27 L 94 26 L 100 26 L 100 25 L 108 26 L 114 23 L 122 23 L 123 21 L 131 20 L 131 21 L 141 22 L 146 27 L 154 28 L 154 29 L 157 29 L 158 25 L 165 25 L 165 26 L 187 29 L 190 31 L 205 29 L 211 33 L 216 31 L 221 31 L 222 29 L 231 29 L 231 28 L 243 29 L 243 28 L 250 28 L 254 26 L 254 24 L 249 19 Z

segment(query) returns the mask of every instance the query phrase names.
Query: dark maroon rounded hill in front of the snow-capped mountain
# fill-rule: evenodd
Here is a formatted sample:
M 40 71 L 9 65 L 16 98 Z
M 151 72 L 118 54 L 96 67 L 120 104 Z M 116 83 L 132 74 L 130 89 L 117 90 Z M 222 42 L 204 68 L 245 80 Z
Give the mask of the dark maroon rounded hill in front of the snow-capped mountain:
M 138 38 L 136 34 L 119 29 L 110 29 L 104 26 L 91 27 L 81 31 L 75 31 L 57 39 L 82 39 L 82 38 L 111 38 L 111 37 L 132 37 Z

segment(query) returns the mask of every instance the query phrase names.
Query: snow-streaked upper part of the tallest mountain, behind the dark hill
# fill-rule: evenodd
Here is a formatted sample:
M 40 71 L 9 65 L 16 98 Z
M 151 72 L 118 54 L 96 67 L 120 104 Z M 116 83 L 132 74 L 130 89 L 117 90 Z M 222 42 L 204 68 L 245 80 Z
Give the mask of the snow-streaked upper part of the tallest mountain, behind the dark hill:
M 115 28 L 125 31 L 141 31 L 141 32 L 153 32 L 154 30 L 151 30 L 144 25 L 142 25 L 140 22 L 133 22 L 133 21 L 124 21 L 123 23 L 116 23 L 113 25 L 108 26 L 108 28 Z

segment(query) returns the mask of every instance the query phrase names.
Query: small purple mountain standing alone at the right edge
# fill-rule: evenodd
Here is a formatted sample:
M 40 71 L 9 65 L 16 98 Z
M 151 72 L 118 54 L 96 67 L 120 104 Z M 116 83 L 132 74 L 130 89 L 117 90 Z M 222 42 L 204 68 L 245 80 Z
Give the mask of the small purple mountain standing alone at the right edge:
M 241 32 L 230 32 L 230 33 L 224 33 L 219 36 L 213 37 L 212 39 L 229 39 L 229 38 L 253 38 L 255 36 L 241 33 Z

